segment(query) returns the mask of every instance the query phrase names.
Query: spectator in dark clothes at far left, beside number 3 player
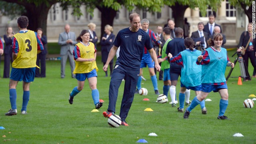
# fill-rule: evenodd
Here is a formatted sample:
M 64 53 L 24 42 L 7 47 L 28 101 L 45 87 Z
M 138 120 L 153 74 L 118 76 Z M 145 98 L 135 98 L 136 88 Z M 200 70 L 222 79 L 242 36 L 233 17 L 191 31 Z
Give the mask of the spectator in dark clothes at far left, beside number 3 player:
M 3 78 L 10 77 L 10 62 L 13 62 L 12 59 L 12 36 L 14 32 L 12 31 L 12 27 L 8 26 L 6 29 L 6 34 L 4 35 L 4 75 Z

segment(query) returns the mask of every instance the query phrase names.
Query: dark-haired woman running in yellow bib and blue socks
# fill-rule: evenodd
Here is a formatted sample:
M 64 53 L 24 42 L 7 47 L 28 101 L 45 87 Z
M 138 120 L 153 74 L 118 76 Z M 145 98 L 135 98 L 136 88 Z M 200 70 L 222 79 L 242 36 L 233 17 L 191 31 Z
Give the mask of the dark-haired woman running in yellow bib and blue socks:
M 84 81 L 88 79 L 89 86 L 92 90 L 92 99 L 96 109 L 102 107 L 100 94 L 97 90 L 97 72 L 98 67 L 96 64 L 96 48 L 92 42 L 89 42 L 90 33 L 87 30 L 82 30 L 80 35 L 76 38 L 76 44 L 73 55 L 76 61 L 74 74 L 78 80 L 78 86 L 74 87 L 69 94 L 69 103 L 73 104 L 73 98 L 84 88 Z

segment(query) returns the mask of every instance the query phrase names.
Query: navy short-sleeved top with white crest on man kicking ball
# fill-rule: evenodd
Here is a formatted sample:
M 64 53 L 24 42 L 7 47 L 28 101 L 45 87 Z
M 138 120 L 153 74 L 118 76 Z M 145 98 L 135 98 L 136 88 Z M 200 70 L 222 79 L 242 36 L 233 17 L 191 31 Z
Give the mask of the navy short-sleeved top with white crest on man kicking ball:
M 129 28 L 120 30 L 114 41 L 114 46 L 120 46 L 119 57 L 116 64 L 128 69 L 139 69 L 144 46 L 149 50 L 153 48 L 148 33 L 139 29 L 137 32 L 130 31 Z

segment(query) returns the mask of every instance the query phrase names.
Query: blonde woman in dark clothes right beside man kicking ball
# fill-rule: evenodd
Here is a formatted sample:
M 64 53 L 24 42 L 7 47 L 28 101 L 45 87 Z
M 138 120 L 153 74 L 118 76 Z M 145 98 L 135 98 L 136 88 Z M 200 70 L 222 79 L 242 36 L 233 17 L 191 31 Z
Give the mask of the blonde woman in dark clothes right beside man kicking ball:
M 105 34 L 103 34 L 102 39 L 100 41 L 100 45 L 101 45 L 101 61 L 103 62 L 103 65 L 106 64 L 106 61 L 108 59 L 108 54 L 110 52 L 110 49 L 113 46 L 113 42 L 115 40 L 115 35 L 112 33 L 113 32 L 113 27 L 110 25 L 106 25 L 105 26 Z M 110 61 L 110 77 L 112 75 L 113 72 L 113 62 L 114 60 L 112 59 Z M 108 71 L 105 72 L 105 76 L 108 76 Z

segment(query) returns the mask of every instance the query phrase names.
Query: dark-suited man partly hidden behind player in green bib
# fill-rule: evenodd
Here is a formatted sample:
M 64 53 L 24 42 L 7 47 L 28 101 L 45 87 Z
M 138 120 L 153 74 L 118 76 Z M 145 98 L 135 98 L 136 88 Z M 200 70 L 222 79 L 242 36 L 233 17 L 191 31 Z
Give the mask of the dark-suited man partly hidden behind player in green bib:
M 163 34 L 162 34 L 163 28 L 162 28 L 162 26 L 157 26 L 156 30 L 157 30 L 156 37 L 158 37 L 160 44 L 156 45 L 154 47 L 155 47 L 155 51 L 156 51 L 156 56 L 161 56 L 162 55 L 161 54 L 162 53 L 162 47 L 165 44 L 165 40 L 164 40 Z M 153 43 L 153 45 L 154 45 L 154 43 Z M 159 65 L 161 66 L 161 63 Z M 154 70 L 155 70 L 155 73 L 156 73 L 156 68 L 154 68 Z M 163 71 L 162 70 L 160 70 L 160 72 L 159 72 L 158 79 L 163 80 Z

